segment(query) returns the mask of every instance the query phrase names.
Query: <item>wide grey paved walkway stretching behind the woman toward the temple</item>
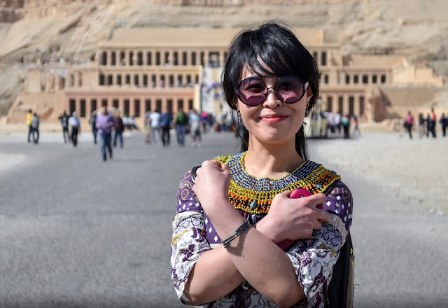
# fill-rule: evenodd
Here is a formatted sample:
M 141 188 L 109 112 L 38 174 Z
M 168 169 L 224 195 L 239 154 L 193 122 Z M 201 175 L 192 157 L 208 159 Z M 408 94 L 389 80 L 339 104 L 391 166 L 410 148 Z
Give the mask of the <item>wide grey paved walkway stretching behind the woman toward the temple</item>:
M 107 162 L 87 132 L 77 148 L 21 140 L 0 138 L 0 307 L 183 307 L 169 267 L 177 186 L 193 165 L 237 153 L 235 137 L 208 134 L 197 149 L 125 134 Z M 355 198 L 355 307 L 447 307 L 444 218 L 338 172 Z

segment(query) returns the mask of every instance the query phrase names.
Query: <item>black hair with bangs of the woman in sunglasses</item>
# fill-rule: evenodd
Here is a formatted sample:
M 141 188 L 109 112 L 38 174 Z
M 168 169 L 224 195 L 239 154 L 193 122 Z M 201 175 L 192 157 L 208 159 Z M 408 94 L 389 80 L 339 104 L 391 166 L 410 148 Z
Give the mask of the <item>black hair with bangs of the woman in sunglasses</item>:
M 286 25 L 279 21 L 268 21 L 258 29 L 240 31 L 230 44 L 228 59 L 225 63 L 222 80 L 225 99 L 235 117 L 237 110 L 237 86 L 244 67 L 258 76 L 272 77 L 295 75 L 303 83 L 308 82 L 313 96 L 307 106 L 312 111 L 319 95 L 321 72 L 314 57 Z M 237 123 L 235 123 L 237 124 Z M 249 134 L 245 127 L 239 132 L 241 151 L 247 151 Z M 295 134 L 295 151 L 303 160 L 307 160 L 307 141 L 303 125 Z

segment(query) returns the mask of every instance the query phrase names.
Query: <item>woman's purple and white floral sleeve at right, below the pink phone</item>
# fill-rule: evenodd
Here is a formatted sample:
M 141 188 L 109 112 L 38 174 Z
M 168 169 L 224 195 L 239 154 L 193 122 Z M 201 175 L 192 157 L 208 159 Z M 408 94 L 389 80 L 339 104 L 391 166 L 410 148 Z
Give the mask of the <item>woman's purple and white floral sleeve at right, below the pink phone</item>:
M 287 251 L 307 296 L 300 303 L 303 307 L 321 307 L 324 283 L 330 281 L 340 248 L 349 234 L 353 198 L 342 181 L 330 188 L 323 209 L 330 213 L 330 221 L 322 223 L 320 230 L 314 230 L 311 239 L 297 241 Z

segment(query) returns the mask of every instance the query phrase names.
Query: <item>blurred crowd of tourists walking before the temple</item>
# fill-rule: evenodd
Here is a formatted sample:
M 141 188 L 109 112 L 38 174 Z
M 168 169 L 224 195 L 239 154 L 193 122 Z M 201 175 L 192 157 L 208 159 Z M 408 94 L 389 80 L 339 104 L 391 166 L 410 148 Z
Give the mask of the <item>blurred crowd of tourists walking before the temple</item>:
M 107 127 L 104 126 L 105 123 L 102 123 L 104 122 L 104 115 L 108 119 L 106 121 L 106 123 L 109 123 Z M 318 127 L 322 127 L 321 130 L 324 133 L 321 133 L 319 137 L 348 139 L 359 137 L 361 134 L 357 115 L 315 112 L 309 116 L 312 118 L 311 123 L 319 123 Z M 73 112 L 70 115 L 64 110 L 59 114 L 58 119 L 61 124 L 64 143 L 73 144 L 76 147 L 78 135 L 81 132 L 81 121 L 78 118 L 78 114 Z M 40 119 L 37 113 L 30 109 L 27 113 L 26 122 L 28 142 L 38 144 Z M 112 148 L 117 146 L 124 148 L 123 133 L 125 130 L 139 130 L 134 117 L 126 114 L 122 117 L 119 110 L 113 109 L 112 112 L 109 112 L 107 107 L 104 106 L 98 111 L 92 112 L 89 124 L 93 143 L 97 144 L 97 139 L 99 138 L 101 155 L 104 161 L 106 161 L 106 153 L 109 153 L 109 157 L 112 158 Z M 437 125 L 440 125 L 440 128 Z M 444 112 L 440 113 L 440 117 L 437 117 L 435 110 L 431 109 L 426 116 L 423 113 L 419 113 L 418 117 L 414 118 L 412 112 L 409 111 L 402 122 L 402 128 L 398 129 L 398 131 L 402 132 L 405 130 L 409 134 L 409 139 L 414 137 L 414 131 L 416 131 L 419 138 L 437 138 L 437 131 L 439 134 L 442 134 L 442 137 L 446 137 L 447 126 L 448 116 Z M 312 127 L 314 126 L 311 125 L 311 129 Z M 174 130 L 178 146 L 185 146 L 189 139 L 190 146 L 199 148 L 202 146 L 202 134 L 209 132 L 235 132 L 235 137 L 240 137 L 241 132 L 244 131 L 244 125 L 238 118 L 233 119 L 231 113 L 214 115 L 207 112 L 199 113 L 195 109 L 185 111 L 183 107 L 180 107 L 175 113 L 167 109 L 164 109 L 162 112 L 146 111 L 144 130 L 146 132 L 146 144 L 162 144 L 162 146 L 167 147 L 171 143 L 170 134 Z M 394 128 L 394 130 L 397 129 Z M 189 138 L 187 139 L 188 135 Z M 309 137 L 315 136 L 311 133 Z

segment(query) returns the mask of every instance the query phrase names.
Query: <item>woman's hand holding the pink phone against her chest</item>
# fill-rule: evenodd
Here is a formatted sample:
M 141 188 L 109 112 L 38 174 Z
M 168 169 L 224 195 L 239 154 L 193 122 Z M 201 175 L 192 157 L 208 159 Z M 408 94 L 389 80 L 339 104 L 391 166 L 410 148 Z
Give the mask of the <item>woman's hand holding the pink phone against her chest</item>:
M 267 216 L 257 223 L 257 229 L 263 230 L 274 243 L 309 239 L 313 230 L 322 227 L 321 222 L 330 220 L 330 214 L 317 208 L 325 202 L 324 194 L 290 199 L 290 193 L 288 190 L 276 195 Z

